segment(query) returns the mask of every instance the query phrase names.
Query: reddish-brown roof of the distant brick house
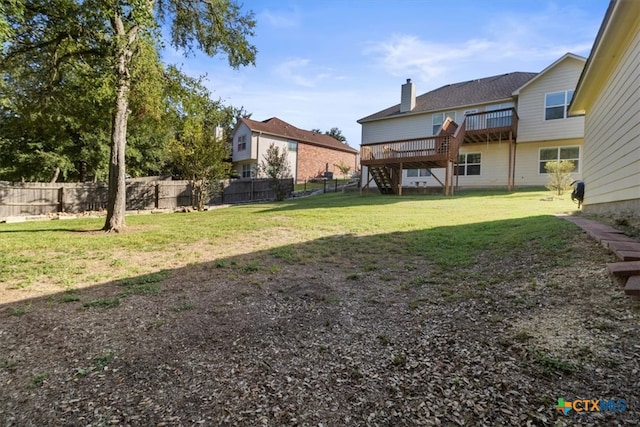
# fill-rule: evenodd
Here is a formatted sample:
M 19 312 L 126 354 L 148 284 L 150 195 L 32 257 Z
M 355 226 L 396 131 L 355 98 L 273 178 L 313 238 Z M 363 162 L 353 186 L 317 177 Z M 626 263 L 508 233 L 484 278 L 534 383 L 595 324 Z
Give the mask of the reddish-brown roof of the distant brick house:
M 272 136 L 279 136 L 306 144 L 331 148 L 332 150 L 346 151 L 349 153 L 359 152 L 358 150 L 348 146 L 347 144 L 338 141 L 332 136 L 317 132 L 311 132 L 304 129 L 298 129 L 297 127 L 285 122 L 284 120 L 280 120 L 277 117 L 272 117 L 262 122 L 240 118 L 240 122 L 244 123 L 252 132 L 261 132 Z

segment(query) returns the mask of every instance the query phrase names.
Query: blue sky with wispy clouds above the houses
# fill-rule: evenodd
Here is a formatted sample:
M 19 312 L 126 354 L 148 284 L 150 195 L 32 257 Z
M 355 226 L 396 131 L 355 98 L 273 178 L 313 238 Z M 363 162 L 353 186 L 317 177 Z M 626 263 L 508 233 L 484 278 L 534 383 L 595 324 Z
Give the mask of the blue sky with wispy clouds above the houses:
M 337 127 L 359 148 L 357 120 L 446 84 L 540 72 L 567 52 L 588 57 L 609 0 L 239 0 L 253 11 L 255 66 L 224 55 L 163 59 L 206 76 L 215 99 L 253 120 Z

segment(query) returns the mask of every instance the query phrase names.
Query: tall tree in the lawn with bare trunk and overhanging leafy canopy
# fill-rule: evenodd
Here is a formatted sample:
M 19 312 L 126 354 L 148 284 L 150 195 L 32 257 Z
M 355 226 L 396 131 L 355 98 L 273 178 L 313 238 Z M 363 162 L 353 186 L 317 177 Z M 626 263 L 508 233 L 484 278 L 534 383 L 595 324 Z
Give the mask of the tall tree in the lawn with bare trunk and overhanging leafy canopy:
M 234 68 L 255 62 L 256 49 L 248 41 L 255 26 L 253 13 L 243 13 L 234 0 L 25 0 L 6 3 L 0 12 L 0 37 L 7 40 L 2 67 L 8 62 L 39 62 L 32 55 L 44 55 L 47 82 L 53 84 L 64 64 L 103 60 L 113 95 L 106 231 L 125 226 L 133 70 L 135 64 L 145 63 L 145 44 L 159 45 L 159 28 L 166 24 L 171 44 L 185 53 L 226 53 Z

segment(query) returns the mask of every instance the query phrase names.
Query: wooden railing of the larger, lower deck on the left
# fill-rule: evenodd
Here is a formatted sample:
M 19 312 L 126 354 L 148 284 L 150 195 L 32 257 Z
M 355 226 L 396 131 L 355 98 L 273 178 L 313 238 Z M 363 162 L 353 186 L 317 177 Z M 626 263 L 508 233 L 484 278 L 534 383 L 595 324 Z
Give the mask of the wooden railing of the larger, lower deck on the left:
M 453 142 L 453 136 L 445 135 L 363 145 L 360 150 L 360 159 L 363 162 L 371 162 L 433 156 L 449 157 Z

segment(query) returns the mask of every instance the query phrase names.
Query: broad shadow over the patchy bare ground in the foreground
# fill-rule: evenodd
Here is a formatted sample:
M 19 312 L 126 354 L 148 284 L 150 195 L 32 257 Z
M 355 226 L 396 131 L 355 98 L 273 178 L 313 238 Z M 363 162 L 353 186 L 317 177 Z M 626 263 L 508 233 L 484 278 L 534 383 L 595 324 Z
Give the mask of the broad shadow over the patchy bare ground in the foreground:
M 575 250 L 577 230 L 541 215 L 334 235 L 3 304 L 0 418 L 338 425 L 375 412 L 385 424 L 451 421 L 421 412 L 425 400 L 435 405 L 435 387 L 449 401 L 482 395 L 486 413 L 469 419 L 508 424 L 502 394 L 485 392 L 498 378 L 552 416 L 545 396 L 598 391 L 598 379 L 540 377 L 501 343 L 518 317 L 603 292 L 529 286 L 578 259 L 604 262 L 602 248 Z

